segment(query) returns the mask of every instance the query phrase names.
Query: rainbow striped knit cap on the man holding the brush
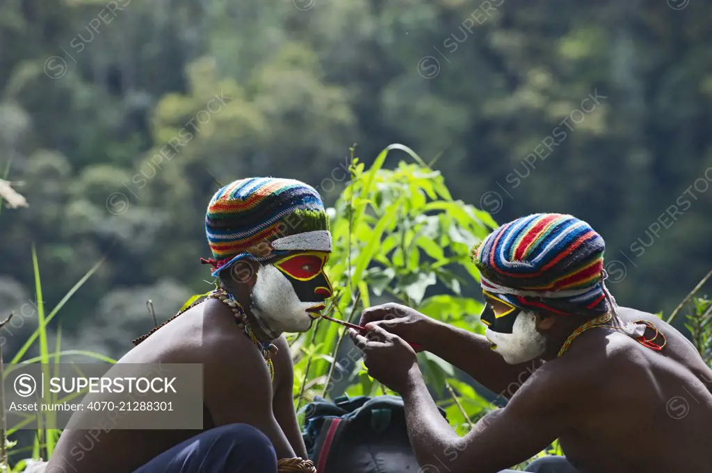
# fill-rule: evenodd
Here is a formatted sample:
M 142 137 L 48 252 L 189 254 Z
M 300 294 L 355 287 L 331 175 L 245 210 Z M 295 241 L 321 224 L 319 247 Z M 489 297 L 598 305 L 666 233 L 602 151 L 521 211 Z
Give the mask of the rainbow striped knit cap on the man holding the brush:
M 502 225 L 471 250 L 483 291 L 515 307 L 554 314 L 608 310 L 605 243 L 588 223 L 535 213 Z

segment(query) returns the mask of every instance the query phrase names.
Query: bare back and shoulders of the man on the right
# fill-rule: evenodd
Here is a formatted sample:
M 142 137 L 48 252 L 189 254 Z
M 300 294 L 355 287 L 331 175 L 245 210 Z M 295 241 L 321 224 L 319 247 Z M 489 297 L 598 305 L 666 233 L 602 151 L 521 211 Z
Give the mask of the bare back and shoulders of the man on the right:
M 669 324 L 633 309 L 619 314 L 652 321 L 667 345 L 657 352 L 617 331 L 592 329 L 551 362 L 560 363 L 562 379 L 567 371 L 587 378 L 589 395 L 560 436 L 567 457 L 586 473 L 708 471 L 712 371 Z

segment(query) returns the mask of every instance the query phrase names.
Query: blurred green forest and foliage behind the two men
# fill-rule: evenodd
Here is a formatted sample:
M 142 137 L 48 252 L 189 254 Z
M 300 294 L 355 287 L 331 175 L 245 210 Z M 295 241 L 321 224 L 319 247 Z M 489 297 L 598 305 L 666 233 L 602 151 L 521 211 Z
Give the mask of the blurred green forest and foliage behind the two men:
M 533 212 L 590 223 L 617 302 L 669 315 L 712 268 L 711 24 L 698 0 L 4 0 L 4 360 L 120 358 L 207 292 L 206 204 L 246 176 L 331 208 L 333 317 L 481 330 L 467 250 Z M 703 294 L 674 321 L 701 351 Z M 290 339 L 295 405 L 381 393 L 320 325 Z M 461 431 L 491 408 L 423 362 Z

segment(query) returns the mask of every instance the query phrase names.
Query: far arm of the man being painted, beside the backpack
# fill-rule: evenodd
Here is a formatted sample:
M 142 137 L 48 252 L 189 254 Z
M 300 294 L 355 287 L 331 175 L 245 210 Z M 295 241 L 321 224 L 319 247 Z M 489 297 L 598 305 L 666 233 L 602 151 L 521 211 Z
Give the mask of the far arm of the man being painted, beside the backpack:
M 297 413 L 294 410 L 294 366 L 289 344 L 284 336 L 281 336 L 275 341 L 275 345 L 278 349 L 274 356 L 275 379 L 278 378 L 279 383 L 272 400 L 272 410 L 297 456 L 307 459 L 307 449 L 297 421 Z

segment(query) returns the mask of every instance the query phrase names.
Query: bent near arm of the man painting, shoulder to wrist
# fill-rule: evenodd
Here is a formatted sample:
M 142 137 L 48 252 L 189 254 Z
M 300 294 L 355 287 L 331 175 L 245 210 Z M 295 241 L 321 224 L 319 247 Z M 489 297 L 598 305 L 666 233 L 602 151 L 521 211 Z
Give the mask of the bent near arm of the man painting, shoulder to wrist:
M 421 467 L 446 465 L 450 473 L 496 473 L 545 449 L 565 430 L 568 402 L 538 372 L 506 408 L 482 418 L 459 437 L 439 413 L 417 365 L 402 393 L 411 445 Z

